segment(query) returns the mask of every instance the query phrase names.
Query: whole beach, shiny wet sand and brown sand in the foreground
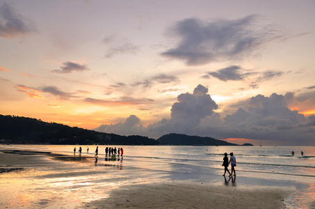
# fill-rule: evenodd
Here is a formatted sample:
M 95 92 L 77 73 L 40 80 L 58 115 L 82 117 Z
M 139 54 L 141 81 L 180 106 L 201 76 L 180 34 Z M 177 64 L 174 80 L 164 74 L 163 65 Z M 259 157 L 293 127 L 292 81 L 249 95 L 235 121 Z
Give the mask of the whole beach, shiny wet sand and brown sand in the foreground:
M 0 208 L 285 208 L 285 199 L 305 187 L 152 164 L 1 146 Z

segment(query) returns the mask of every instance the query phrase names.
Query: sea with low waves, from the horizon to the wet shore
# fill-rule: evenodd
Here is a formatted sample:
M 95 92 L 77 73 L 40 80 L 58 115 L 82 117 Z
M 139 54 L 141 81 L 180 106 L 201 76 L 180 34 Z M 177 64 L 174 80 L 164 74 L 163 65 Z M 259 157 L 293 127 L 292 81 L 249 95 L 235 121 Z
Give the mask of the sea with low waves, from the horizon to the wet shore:
M 315 146 L 13 145 L 10 148 L 78 156 L 81 147 L 82 155 L 94 157 L 97 146 L 98 165 L 108 164 L 107 146 L 123 148 L 123 161 L 120 157 L 119 164 L 111 162 L 117 164 L 117 169 L 140 168 L 144 173 L 161 173 L 154 178 L 195 180 L 213 185 L 227 185 L 222 176 L 223 157 L 224 153 L 228 157 L 229 153 L 234 153 L 237 178 L 232 186 L 291 187 L 294 192 L 284 199 L 286 208 L 312 208 L 315 205 Z

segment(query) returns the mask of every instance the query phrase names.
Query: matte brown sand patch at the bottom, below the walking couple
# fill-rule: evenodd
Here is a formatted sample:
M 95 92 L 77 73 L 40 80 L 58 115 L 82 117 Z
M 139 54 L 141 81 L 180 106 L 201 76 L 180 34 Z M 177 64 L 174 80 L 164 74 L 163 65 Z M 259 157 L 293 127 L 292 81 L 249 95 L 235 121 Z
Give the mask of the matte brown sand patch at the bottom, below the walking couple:
M 283 190 L 238 189 L 194 183 L 153 183 L 115 190 L 84 208 L 285 208 Z

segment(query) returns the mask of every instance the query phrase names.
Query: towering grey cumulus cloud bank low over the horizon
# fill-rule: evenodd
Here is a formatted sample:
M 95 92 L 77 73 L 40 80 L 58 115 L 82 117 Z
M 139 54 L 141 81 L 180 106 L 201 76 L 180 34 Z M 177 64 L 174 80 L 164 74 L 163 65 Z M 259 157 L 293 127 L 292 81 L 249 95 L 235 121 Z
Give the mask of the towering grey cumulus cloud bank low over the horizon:
M 124 123 L 102 125 L 97 130 L 153 138 L 179 133 L 216 139 L 268 139 L 287 145 L 312 144 L 315 116 L 306 117 L 289 109 L 287 102 L 294 99 L 291 93 L 273 93 L 269 97 L 256 95 L 248 100 L 247 107 L 240 107 L 234 114 L 220 118 L 220 114 L 215 112 L 218 104 L 211 99 L 206 87 L 198 85 L 193 93 L 177 97 L 168 119 L 143 127 L 140 118 L 130 116 Z

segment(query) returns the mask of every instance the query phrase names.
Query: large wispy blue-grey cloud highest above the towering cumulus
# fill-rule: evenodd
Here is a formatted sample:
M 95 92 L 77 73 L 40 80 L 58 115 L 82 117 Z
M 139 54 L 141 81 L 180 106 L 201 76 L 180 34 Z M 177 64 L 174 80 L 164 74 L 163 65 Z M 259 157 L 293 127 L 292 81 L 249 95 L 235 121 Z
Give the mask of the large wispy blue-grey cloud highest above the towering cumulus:
M 257 28 L 258 20 L 257 15 L 216 22 L 196 18 L 181 20 L 170 29 L 173 36 L 180 38 L 179 42 L 162 55 L 186 61 L 187 65 L 241 59 L 276 37 L 273 29 L 266 26 Z

